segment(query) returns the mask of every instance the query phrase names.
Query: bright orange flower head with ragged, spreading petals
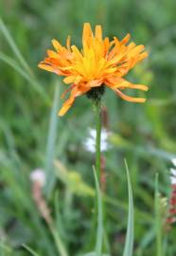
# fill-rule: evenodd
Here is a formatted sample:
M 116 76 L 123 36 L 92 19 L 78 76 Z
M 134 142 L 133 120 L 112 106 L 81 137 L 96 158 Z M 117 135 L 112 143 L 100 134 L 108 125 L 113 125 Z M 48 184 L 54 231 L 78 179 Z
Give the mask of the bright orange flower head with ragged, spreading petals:
M 135 64 L 148 57 L 143 45 L 136 46 L 133 42 L 127 45 L 129 39 L 130 34 L 121 41 L 116 37 L 113 41 L 108 37 L 103 39 L 101 26 L 97 25 L 93 34 L 90 24 L 85 23 L 81 50 L 77 46 L 71 46 L 69 36 L 66 47 L 55 39 L 52 41 L 55 51 L 47 50 L 48 56 L 39 67 L 64 76 L 63 82 L 71 84 L 62 94 L 63 98 L 70 91 L 70 97 L 63 103 L 59 116 L 68 111 L 76 97 L 103 84 L 126 101 L 146 101 L 143 98 L 132 98 L 122 92 L 126 88 L 148 90 L 146 85 L 133 84 L 122 78 Z

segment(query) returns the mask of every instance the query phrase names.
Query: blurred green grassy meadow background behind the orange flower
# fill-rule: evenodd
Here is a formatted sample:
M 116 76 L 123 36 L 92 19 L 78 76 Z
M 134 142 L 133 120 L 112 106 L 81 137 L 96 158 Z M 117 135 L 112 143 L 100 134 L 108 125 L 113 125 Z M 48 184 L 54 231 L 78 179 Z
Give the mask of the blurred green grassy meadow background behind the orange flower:
M 133 255 L 156 255 L 154 178 L 159 173 L 160 192 L 168 196 L 170 159 L 176 155 L 175 9 L 174 0 L 0 0 L 1 255 L 29 255 L 22 244 L 39 255 L 60 255 L 56 237 L 71 256 L 94 247 L 95 159 L 83 147 L 88 129 L 95 126 L 91 102 L 81 97 L 58 118 L 65 87 L 59 77 L 37 67 L 53 38 L 64 45 L 70 35 L 80 46 L 84 22 L 101 24 L 104 36 L 111 38 L 130 32 L 150 53 L 128 75 L 134 83 L 150 85 L 145 104 L 122 101 L 108 89 L 103 99 L 112 132 L 111 149 L 104 154 L 105 247 L 111 255 L 122 255 L 128 213 L 126 158 L 135 206 Z M 54 234 L 32 198 L 30 172 L 36 168 L 46 172 L 44 197 Z M 175 227 L 164 229 L 163 236 L 166 255 L 176 255 Z

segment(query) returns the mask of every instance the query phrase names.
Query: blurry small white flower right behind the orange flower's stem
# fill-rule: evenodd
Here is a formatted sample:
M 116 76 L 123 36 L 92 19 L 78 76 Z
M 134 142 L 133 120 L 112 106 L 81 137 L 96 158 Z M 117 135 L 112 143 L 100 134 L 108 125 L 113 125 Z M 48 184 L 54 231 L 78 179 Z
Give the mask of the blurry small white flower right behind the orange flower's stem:
M 89 129 L 89 137 L 86 138 L 85 142 L 83 143 L 85 149 L 91 153 L 96 152 L 96 130 L 95 129 Z M 106 129 L 101 130 L 101 152 L 107 151 L 110 148 L 110 145 L 108 143 L 108 137 L 110 133 Z

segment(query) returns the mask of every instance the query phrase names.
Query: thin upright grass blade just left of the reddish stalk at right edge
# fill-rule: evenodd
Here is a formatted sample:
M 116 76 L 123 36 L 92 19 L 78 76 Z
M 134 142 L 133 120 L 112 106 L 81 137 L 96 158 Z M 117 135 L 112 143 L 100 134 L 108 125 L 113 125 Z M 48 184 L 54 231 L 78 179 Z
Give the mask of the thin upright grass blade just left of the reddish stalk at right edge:
M 158 174 L 155 176 L 155 232 L 156 232 L 156 256 L 164 256 L 162 247 L 162 218 L 161 218 L 161 205 Z

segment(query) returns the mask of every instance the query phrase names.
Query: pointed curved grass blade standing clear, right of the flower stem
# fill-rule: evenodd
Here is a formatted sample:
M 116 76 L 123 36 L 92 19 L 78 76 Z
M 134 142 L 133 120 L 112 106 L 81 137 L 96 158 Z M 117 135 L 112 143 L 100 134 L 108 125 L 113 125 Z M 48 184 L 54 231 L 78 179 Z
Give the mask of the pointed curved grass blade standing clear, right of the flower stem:
M 128 184 L 128 191 L 129 191 L 129 214 L 128 214 L 127 235 L 126 235 L 123 256 L 132 256 L 132 250 L 133 250 L 133 199 L 132 199 L 131 179 L 130 179 L 129 168 L 128 168 L 126 160 L 125 160 L 125 167 L 126 167 L 126 172 L 127 172 L 127 184 Z

